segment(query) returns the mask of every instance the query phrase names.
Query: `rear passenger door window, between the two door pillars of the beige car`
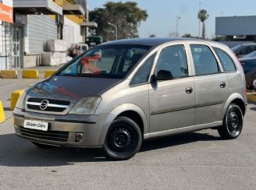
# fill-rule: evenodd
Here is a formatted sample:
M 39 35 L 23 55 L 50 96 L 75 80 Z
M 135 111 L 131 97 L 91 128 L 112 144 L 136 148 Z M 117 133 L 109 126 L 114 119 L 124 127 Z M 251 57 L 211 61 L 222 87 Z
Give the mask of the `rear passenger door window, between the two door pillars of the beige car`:
M 190 45 L 193 60 L 194 70 L 197 76 L 209 75 L 219 72 L 218 62 L 212 51 L 206 45 Z

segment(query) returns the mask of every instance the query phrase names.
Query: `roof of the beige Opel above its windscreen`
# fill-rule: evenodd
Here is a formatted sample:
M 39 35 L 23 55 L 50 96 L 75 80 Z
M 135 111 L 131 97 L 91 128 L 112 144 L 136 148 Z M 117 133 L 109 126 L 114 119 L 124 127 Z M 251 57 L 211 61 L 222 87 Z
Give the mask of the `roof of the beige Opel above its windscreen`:
M 144 37 L 144 38 L 132 38 L 124 40 L 113 40 L 108 41 L 100 45 L 124 45 L 124 44 L 133 44 L 133 45 L 146 45 L 146 46 L 158 46 L 165 44 L 171 41 L 184 41 L 184 40 L 201 40 L 187 37 Z

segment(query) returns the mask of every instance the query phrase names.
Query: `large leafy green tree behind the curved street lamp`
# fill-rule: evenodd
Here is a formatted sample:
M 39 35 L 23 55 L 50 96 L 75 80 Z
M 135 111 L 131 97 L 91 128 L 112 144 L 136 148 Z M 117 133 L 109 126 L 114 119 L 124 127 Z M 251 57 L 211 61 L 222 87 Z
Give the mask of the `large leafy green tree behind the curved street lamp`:
M 137 28 L 148 18 L 148 13 L 137 7 L 137 2 L 107 2 L 104 8 L 91 11 L 89 17 L 91 21 L 98 23 L 98 28 L 95 29 L 97 35 L 104 40 L 113 40 L 115 28 L 108 23 L 117 26 L 118 39 L 139 37 Z

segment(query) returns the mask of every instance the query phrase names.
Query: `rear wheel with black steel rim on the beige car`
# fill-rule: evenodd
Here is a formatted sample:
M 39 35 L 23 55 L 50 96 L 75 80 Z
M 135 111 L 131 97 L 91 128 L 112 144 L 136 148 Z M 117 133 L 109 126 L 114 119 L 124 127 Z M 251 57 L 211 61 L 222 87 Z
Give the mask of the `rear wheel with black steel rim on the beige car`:
M 230 104 L 218 132 L 223 139 L 236 139 L 243 129 L 243 113 L 239 106 Z

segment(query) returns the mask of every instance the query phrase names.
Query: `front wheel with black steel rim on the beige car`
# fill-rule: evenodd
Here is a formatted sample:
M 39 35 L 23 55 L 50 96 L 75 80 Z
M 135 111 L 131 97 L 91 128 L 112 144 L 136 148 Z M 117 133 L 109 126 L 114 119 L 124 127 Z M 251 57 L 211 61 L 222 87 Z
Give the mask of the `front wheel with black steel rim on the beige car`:
M 108 128 L 103 150 L 112 160 L 128 160 L 139 150 L 142 135 L 139 126 L 130 118 L 116 118 Z

